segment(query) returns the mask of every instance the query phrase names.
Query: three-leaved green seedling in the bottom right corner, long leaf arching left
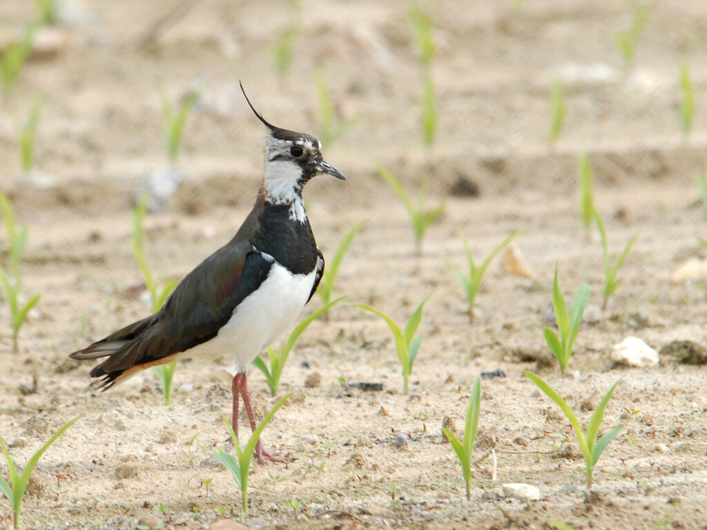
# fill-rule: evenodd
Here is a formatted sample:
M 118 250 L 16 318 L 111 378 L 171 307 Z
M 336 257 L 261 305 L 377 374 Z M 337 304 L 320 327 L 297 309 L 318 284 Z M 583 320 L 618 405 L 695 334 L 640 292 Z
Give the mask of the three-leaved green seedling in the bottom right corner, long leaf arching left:
M 562 409 L 563 413 L 565 413 L 565 416 L 567 416 L 567 419 L 570 421 L 572 428 L 575 432 L 575 436 L 577 437 L 577 442 L 579 443 L 579 447 L 582 449 L 582 454 L 584 456 L 584 463 L 586 469 L 583 469 L 582 472 L 585 473 L 585 476 L 587 478 L 587 488 L 591 489 L 592 476 L 597 461 L 599 460 L 599 457 L 601 456 L 604 449 L 607 448 L 609 442 L 614 440 L 614 438 L 619 435 L 619 432 L 621 432 L 621 429 L 624 428 L 624 425 L 617 425 L 597 440 L 597 438 L 599 437 L 599 429 L 602 426 L 602 422 L 604 421 L 604 411 L 607 408 L 607 404 L 609 404 L 609 400 L 612 399 L 614 390 L 621 382 L 621 379 L 615 382 L 613 386 L 609 389 L 609 391 L 607 391 L 607 393 L 604 395 L 602 401 L 597 406 L 597 409 L 594 411 L 592 417 L 589 420 L 587 430 L 583 431 L 582 425 L 580 425 L 579 420 L 567 406 L 565 400 L 562 399 L 560 394 L 558 394 L 552 387 L 550 387 L 549 384 L 544 382 L 542 379 L 540 379 L 540 377 L 537 377 L 537 375 L 533 374 L 532 372 L 523 373 L 532 382 L 537 384 L 537 387 L 541 389 L 545 394 L 547 394 L 547 396 Z

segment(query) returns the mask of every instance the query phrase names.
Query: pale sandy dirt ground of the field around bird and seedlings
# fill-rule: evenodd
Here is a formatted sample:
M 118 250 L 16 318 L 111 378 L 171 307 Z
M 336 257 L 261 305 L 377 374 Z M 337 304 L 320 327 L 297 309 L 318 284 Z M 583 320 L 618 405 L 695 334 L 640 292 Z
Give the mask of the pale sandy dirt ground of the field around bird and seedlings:
M 320 135 L 320 71 L 339 116 L 355 120 L 323 150 L 348 180 L 318 177 L 305 189 L 325 257 L 366 221 L 337 293 L 399 322 L 433 294 L 408 395 L 381 319 L 339 305 L 329 322 L 305 331 L 281 384 L 280 395 L 293 396 L 262 437 L 292 461 L 254 466 L 245 524 L 539 529 L 554 519 L 575 529 L 707 528 L 706 368 L 665 354 L 650 368 L 617 367 L 609 358 L 626 336 L 657 350 L 676 340 L 706 345 L 705 284 L 672 276 L 689 259 L 707 257 L 696 240 L 707 237 L 696 186 L 707 146 L 707 8 L 647 2 L 636 59 L 626 66 L 614 41 L 636 5 L 438 0 L 438 136 L 426 148 L 407 3 L 59 0 L 50 51 L 28 62 L 0 107 L 0 187 L 29 234 L 22 290 L 25 298 L 42 295 L 18 352 L 0 300 L 0 435 L 24 465 L 60 425 L 83 418 L 35 469 L 21 527 L 209 529 L 238 519 L 240 491 L 211 449 L 226 438 L 228 351 L 214 364 L 182 363 L 169 407 L 152 372 L 93 394 L 86 390 L 90 363 L 66 356 L 149 312 L 127 239 L 135 190 L 168 165 L 160 90 L 174 99 L 194 83 L 204 87 L 185 126 L 178 161 L 185 180 L 167 210 L 146 219 L 148 261 L 165 281 L 228 241 L 255 198 L 264 131 L 238 80 L 271 122 Z M 33 9 L 33 2 L 2 1 L 0 42 L 16 37 Z M 274 46 L 293 24 L 291 69 L 281 74 Z M 678 118 L 682 61 L 694 83 L 688 137 Z M 564 87 L 567 114 L 552 146 L 554 80 Z M 37 96 L 35 170 L 22 175 L 16 124 Z M 605 312 L 600 240 L 578 215 L 582 152 L 595 169 L 612 256 L 638 234 Z M 421 256 L 376 163 L 409 190 L 429 178 L 428 204 L 445 201 Z M 460 194 L 458 179 L 477 184 L 479 196 Z M 470 324 L 448 266 L 464 263 L 460 230 L 480 260 L 519 229 L 526 232 L 516 245 L 536 278 L 494 261 Z M 547 362 L 542 336 L 556 263 L 567 295 L 583 282 L 592 287 L 566 376 Z M 320 303 L 315 297 L 303 314 Z M 440 428 L 450 418 L 463 430 L 474 379 L 493 370 L 506 377 L 482 381 L 474 457 L 496 449 L 496 478 L 491 457 L 476 464 L 467 501 Z M 600 459 L 592 490 L 578 448 L 567 443 L 566 418 L 523 370 L 546 378 L 583 422 L 623 378 L 602 431 L 620 422 L 627 428 Z M 249 381 L 262 417 L 276 398 L 257 370 Z M 383 390 L 344 387 L 354 382 L 380 382 Z M 8 476 L 4 464 L 0 473 Z M 506 483 L 536 485 L 541 498 L 507 497 Z M 0 527 L 10 528 L 4 499 L 0 517 Z

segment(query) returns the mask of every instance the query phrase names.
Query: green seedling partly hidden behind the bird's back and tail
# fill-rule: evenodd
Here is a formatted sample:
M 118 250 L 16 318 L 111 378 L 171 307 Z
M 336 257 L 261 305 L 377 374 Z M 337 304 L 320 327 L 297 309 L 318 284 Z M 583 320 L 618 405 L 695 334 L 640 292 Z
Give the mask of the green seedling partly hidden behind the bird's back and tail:
M 132 237 L 129 240 L 130 248 L 133 251 L 135 259 L 140 267 L 142 276 L 145 281 L 145 287 L 150 294 L 150 300 L 152 304 L 152 311 L 158 312 L 160 308 L 167 301 L 168 296 L 174 288 L 177 286 L 177 282 L 170 280 L 165 282 L 163 288 L 158 287 L 156 281 L 154 280 L 150 267 L 145 259 L 145 228 L 144 228 L 144 218 L 147 212 L 147 203 L 150 199 L 148 194 L 144 194 L 138 201 L 138 204 L 131 214 L 132 223 Z M 175 370 L 177 370 L 177 363 L 179 361 L 173 360 L 167 365 L 160 365 L 153 367 L 157 378 L 160 382 L 160 388 L 162 389 L 162 394 L 165 398 L 163 405 L 168 406 L 172 399 L 172 379 L 174 377 Z

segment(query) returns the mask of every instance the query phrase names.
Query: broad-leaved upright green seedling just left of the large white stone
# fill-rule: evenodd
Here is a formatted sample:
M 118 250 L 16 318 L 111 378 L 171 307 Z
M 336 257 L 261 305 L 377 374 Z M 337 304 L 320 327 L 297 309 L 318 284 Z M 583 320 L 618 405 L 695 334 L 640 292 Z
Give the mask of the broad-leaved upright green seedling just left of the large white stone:
M 589 301 L 591 290 L 590 286 L 586 283 L 580 285 L 568 312 L 565 298 L 562 295 L 560 284 L 557 281 L 557 266 L 555 266 L 555 279 L 552 285 L 552 305 L 559 334 L 548 327 L 543 328 L 542 333 L 545 336 L 547 346 L 550 347 L 552 354 L 557 359 L 557 362 L 560 363 L 560 371 L 562 373 L 565 372 L 567 363 L 572 356 L 572 347 L 577 338 L 579 326 L 582 323 L 582 314 Z

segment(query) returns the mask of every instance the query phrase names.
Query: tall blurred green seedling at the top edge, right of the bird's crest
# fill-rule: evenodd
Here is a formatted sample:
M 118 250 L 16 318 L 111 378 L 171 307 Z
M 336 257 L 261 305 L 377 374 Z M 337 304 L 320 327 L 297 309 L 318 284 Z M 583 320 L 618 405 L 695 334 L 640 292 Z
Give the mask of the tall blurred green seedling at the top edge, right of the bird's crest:
M 434 19 L 430 13 L 418 5 L 411 6 L 408 18 L 413 28 L 418 49 L 418 61 L 422 71 L 422 97 L 420 100 L 422 138 L 426 146 L 432 146 L 435 143 L 437 129 L 435 88 L 431 72 L 432 57 L 435 53 Z

